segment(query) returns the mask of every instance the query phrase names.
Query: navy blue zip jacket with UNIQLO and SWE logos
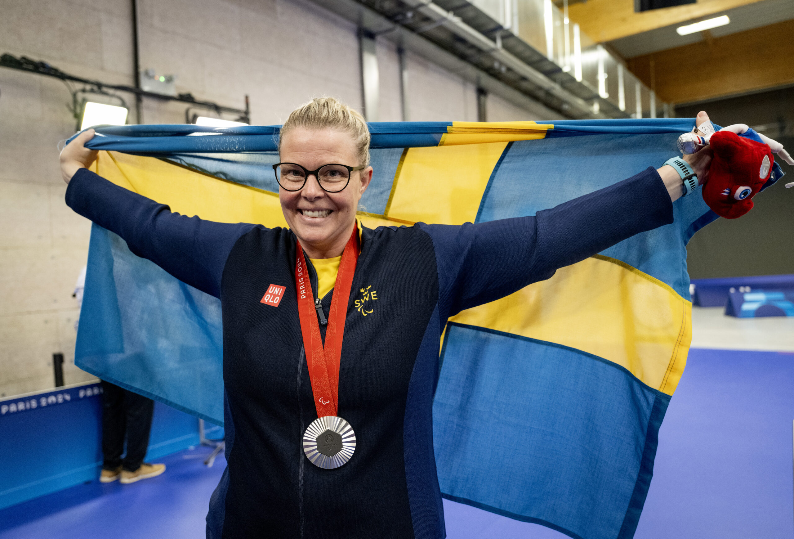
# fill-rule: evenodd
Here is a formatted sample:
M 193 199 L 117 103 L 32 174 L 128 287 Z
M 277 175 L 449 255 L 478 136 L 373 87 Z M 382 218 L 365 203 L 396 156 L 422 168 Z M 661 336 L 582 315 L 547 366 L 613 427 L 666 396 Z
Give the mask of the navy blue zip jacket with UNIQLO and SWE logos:
M 301 447 L 317 412 L 295 295 L 295 235 L 187 218 L 86 169 L 66 198 L 137 256 L 221 300 L 228 467 L 210 500 L 207 537 L 235 539 L 445 537 L 432 403 L 447 318 L 673 222 L 669 194 L 649 168 L 533 217 L 364 228 L 338 401 L 357 446 L 347 464 L 326 470 Z M 286 288 L 277 307 L 260 302 L 270 284 Z M 322 298 L 326 314 L 332 296 Z

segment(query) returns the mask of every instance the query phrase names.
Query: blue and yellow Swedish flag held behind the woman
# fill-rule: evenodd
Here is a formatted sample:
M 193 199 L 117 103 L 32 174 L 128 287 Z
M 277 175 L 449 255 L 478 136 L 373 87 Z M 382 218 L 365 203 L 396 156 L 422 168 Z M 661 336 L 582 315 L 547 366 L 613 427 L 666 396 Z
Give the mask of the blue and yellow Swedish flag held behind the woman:
M 359 218 L 374 227 L 532 215 L 660 166 L 693 123 L 370 124 L 375 173 Z M 270 166 L 278 126 L 97 131 L 94 170 L 110 181 L 182 214 L 284 225 Z M 685 247 L 716 218 L 700 190 L 674 213 L 672 225 L 449 320 L 434 401 L 445 497 L 570 537 L 633 537 L 691 340 Z M 220 302 L 97 225 L 75 363 L 222 425 Z

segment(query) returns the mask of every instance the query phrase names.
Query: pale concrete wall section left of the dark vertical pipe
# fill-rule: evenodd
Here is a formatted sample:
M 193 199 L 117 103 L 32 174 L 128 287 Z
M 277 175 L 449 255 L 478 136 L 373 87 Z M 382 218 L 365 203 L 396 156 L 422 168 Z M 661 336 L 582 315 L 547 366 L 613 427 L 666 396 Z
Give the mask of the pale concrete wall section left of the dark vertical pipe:
M 126 2 L 0 2 L 0 51 L 64 71 L 130 83 Z M 84 46 L 80 46 L 84 44 Z M 58 144 L 75 131 L 56 79 L 0 68 L 0 396 L 91 379 L 72 364 L 90 223 L 64 205 Z

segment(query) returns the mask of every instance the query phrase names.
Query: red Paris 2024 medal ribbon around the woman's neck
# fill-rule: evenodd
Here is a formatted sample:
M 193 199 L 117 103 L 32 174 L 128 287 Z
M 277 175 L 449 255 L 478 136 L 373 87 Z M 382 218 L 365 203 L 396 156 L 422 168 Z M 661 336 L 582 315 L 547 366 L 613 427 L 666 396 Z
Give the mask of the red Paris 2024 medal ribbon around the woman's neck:
M 303 348 L 306 350 L 306 365 L 309 368 L 311 392 L 317 417 L 337 415 L 339 394 L 339 362 L 342 355 L 342 337 L 345 336 L 350 288 L 353 287 L 353 274 L 358 261 L 358 227 L 353 225 L 353 234 L 345 245 L 339 262 L 337 280 L 333 285 L 331 310 L 326 328 L 326 345 L 322 345 L 320 325 L 314 307 L 314 294 L 311 290 L 309 271 L 303 248 L 298 242 L 298 256 L 295 260 L 295 288 L 298 291 L 298 316 L 300 331 L 303 334 Z

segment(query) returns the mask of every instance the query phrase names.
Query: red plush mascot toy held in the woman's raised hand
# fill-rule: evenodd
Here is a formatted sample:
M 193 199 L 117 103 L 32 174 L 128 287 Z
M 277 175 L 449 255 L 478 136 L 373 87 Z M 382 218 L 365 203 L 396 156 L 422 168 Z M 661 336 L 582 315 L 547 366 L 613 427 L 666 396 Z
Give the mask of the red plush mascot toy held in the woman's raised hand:
M 684 133 L 679 137 L 678 147 L 683 153 L 694 153 L 711 144 L 714 159 L 709 168 L 708 182 L 703 186 L 703 200 L 720 217 L 735 219 L 752 209 L 752 198 L 774 174 L 773 152 L 787 163 L 794 164 L 783 145 L 769 137 L 754 132 L 763 142 L 739 137 L 738 133 L 747 133 L 750 129 L 747 125 L 730 125 L 715 133 L 711 121 L 707 121 L 698 129 L 703 133 L 702 137 L 696 133 Z

